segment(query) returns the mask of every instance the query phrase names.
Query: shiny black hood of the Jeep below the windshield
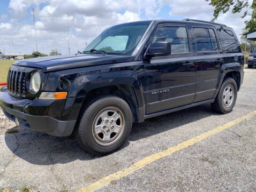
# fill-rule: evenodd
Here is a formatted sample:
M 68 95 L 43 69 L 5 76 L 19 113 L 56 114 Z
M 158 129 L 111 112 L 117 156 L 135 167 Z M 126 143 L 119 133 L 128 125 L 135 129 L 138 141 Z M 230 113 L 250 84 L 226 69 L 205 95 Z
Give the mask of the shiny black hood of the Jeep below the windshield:
M 127 55 L 103 55 L 86 53 L 73 56 L 50 56 L 19 60 L 12 65 L 22 67 L 40 68 L 43 71 L 56 71 L 70 68 L 104 65 L 110 63 L 130 62 L 134 56 Z

